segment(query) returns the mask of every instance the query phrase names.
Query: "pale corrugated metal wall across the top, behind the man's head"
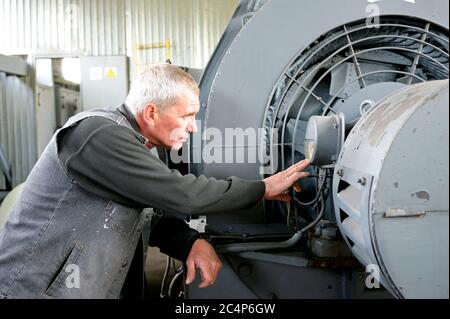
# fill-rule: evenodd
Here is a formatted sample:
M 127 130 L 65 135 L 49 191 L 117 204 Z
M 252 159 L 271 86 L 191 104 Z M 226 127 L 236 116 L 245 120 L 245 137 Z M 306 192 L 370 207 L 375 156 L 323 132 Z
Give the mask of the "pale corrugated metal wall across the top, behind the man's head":
M 135 70 L 164 62 L 168 41 L 173 63 L 204 68 L 238 2 L 0 0 L 0 52 L 128 55 Z

